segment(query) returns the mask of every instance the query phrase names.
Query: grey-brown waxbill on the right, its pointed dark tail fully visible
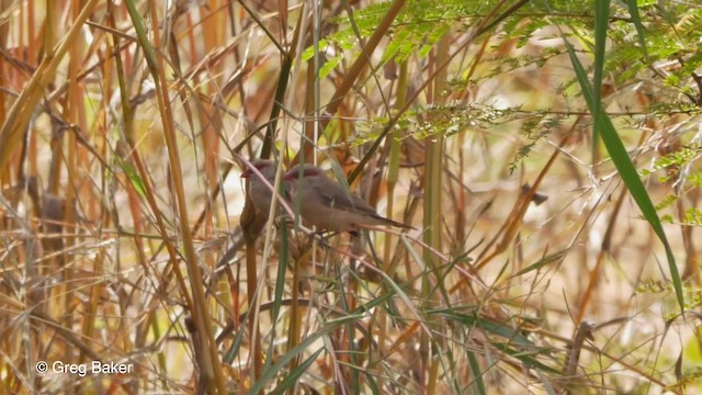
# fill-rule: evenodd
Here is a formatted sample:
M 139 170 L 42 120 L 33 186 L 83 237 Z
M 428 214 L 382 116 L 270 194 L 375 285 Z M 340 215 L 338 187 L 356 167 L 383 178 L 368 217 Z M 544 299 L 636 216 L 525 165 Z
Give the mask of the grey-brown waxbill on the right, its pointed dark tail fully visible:
M 377 215 L 363 199 L 346 191 L 316 166 L 297 165 L 283 179 L 292 185 L 293 202 L 297 199 L 301 201 L 299 214 L 303 219 L 318 229 L 358 234 L 359 228 L 374 225 L 412 228 Z

